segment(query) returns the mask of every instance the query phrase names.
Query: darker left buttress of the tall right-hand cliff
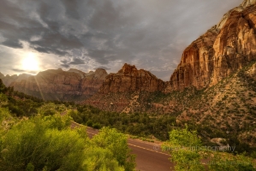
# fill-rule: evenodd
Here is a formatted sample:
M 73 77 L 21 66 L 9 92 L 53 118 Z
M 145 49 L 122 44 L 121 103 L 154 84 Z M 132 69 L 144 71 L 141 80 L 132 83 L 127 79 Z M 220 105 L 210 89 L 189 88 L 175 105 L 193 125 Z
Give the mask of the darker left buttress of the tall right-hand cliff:
M 209 85 L 213 72 L 213 44 L 218 32 L 216 27 L 212 27 L 184 50 L 181 63 L 170 77 L 171 90 Z

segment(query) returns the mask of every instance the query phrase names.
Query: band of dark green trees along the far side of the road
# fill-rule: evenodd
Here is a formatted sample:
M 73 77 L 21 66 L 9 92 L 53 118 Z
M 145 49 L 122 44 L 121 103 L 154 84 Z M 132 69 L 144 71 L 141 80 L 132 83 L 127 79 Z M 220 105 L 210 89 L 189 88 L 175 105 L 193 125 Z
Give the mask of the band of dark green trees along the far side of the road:
M 102 111 L 90 106 L 77 106 L 77 111 L 72 111 L 70 115 L 74 121 L 88 127 L 113 127 L 122 133 L 161 140 L 168 139 L 168 132 L 176 125 L 174 116 L 124 114 Z

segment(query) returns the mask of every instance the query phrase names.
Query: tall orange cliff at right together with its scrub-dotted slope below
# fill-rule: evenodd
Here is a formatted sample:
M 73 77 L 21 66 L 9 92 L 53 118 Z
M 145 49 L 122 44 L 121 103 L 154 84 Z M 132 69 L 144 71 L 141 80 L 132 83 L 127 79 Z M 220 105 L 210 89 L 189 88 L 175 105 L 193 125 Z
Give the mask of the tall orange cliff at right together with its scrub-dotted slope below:
M 255 148 L 255 12 L 255 1 L 244 1 L 190 44 L 170 81 L 164 82 L 164 91 L 131 89 L 137 84 L 116 81 L 113 87 L 129 91 L 100 91 L 85 103 L 127 114 L 173 116 L 177 127 L 197 129 L 205 143 L 223 138 L 239 151 Z

